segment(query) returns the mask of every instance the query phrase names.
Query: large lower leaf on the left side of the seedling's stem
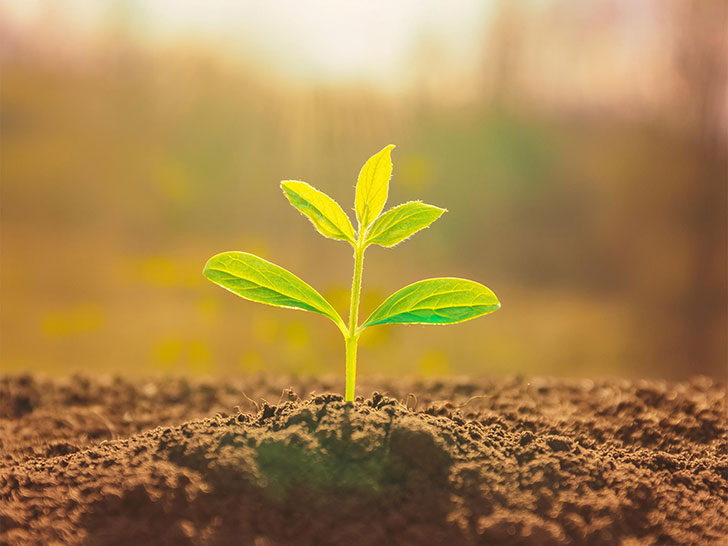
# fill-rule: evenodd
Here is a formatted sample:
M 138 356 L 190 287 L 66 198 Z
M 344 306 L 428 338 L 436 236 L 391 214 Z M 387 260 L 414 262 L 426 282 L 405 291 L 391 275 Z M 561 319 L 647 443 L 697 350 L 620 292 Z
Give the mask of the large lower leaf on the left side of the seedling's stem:
M 246 300 L 320 313 L 346 330 L 339 314 L 321 294 L 293 273 L 254 254 L 217 254 L 207 261 L 202 274 Z

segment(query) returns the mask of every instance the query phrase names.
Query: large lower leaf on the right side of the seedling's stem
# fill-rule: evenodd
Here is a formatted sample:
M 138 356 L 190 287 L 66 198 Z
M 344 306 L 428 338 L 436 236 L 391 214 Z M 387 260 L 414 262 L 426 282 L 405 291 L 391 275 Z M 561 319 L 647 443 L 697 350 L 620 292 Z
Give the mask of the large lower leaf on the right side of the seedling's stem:
M 361 328 L 375 324 L 454 324 L 500 308 L 495 294 L 466 279 L 427 279 L 389 296 Z

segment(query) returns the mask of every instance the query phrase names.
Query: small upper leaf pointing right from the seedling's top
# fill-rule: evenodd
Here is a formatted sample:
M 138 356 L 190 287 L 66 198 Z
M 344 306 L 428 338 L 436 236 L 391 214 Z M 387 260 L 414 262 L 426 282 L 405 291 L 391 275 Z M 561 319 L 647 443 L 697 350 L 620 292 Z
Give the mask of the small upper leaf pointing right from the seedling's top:
M 445 209 L 410 201 L 397 205 L 374 220 L 367 232 L 366 244 L 393 247 L 437 220 Z

